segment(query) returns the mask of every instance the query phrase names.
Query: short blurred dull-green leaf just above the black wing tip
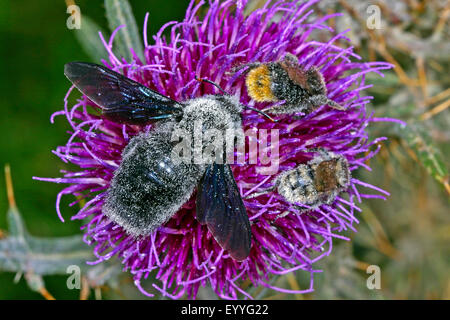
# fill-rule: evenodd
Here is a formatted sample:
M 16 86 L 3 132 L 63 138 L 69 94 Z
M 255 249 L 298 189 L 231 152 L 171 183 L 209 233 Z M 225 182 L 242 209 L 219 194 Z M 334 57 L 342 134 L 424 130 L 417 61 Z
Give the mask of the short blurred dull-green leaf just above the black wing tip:
M 100 26 L 87 16 L 83 16 L 81 28 L 74 30 L 75 37 L 80 42 L 81 47 L 93 61 L 97 62 L 108 57 L 108 53 L 100 40 L 99 31 L 105 34 Z

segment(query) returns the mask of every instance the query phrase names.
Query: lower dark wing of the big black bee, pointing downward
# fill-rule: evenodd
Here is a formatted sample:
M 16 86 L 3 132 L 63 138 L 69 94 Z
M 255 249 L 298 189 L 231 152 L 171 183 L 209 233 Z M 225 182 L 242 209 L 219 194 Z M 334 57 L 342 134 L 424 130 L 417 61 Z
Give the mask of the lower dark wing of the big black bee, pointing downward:
M 248 257 L 250 221 L 228 164 L 214 163 L 206 168 L 197 191 L 197 220 L 208 226 L 233 259 L 242 261 Z

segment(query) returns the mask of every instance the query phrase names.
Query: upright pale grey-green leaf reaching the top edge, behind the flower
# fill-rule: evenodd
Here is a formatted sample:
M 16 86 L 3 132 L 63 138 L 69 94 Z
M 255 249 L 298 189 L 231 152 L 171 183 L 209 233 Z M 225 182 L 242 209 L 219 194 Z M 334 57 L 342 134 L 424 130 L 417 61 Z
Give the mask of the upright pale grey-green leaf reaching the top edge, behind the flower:
M 124 25 L 116 35 L 114 46 L 120 56 L 127 61 L 132 61 L 132 48 L 141 61 L 144 61 L 144 49 L 139 36 L 136 20 L 134 19 L 131 6 L 126 0 L 105 0 L 106 18 L 109 28 L 113 32 L 117 27 Z

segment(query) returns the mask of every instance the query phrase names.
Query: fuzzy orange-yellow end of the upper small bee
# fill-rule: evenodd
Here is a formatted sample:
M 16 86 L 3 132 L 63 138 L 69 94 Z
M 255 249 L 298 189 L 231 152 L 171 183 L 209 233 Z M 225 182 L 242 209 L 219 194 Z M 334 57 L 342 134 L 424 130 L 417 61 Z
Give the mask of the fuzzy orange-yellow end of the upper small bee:
M 256 102 L 277 101 L 271 89 L 272 77 L 266 64 L 252 68 L 245 78 L 245 84 L 248 95 Z

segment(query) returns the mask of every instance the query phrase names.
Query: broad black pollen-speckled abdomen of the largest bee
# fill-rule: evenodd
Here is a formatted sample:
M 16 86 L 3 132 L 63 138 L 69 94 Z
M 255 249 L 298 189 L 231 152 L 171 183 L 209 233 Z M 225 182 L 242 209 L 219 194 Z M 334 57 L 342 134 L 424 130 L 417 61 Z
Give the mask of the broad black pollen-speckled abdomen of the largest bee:
M 170 136 L 158 131 L 134 137 L 108 189 L 103 213 L 132 235 L 147 235 L 190 198 L 200 168 L 175 163 Z

